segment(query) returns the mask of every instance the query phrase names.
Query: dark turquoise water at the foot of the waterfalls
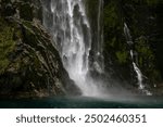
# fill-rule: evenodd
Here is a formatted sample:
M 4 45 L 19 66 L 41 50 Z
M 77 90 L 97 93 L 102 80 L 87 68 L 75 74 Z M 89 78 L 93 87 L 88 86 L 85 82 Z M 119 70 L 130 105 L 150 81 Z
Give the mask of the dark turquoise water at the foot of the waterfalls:
M 0 100 L 1 109 L 162 109 L 163 97 L 50 97 Z

